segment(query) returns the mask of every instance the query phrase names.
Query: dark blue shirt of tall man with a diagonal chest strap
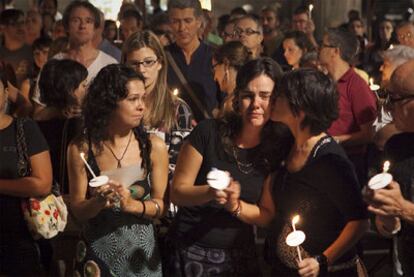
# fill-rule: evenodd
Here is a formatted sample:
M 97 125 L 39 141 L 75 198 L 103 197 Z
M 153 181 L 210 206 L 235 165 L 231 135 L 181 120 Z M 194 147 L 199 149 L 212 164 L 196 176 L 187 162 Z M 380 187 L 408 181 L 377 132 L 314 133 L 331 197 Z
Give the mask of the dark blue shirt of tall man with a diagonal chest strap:
M 186 63 L 184 53 L 177 44 L 173 43 L 167 46 L 166 50 L 171 53 L 199 101 L 211 115 L 212 110 L 218 106 L 219 99 L 219 90 L 212 72 L 213 49 L 204 42 L 200 42 L 191 56 L 190 64 Z M 171 89 L 178 88 L 180 90 L 180 97 L 188 103 L 197 122 L 204 119 L 202 111 L 185 91 L 171 65 L 168 65 L 168 86 Z

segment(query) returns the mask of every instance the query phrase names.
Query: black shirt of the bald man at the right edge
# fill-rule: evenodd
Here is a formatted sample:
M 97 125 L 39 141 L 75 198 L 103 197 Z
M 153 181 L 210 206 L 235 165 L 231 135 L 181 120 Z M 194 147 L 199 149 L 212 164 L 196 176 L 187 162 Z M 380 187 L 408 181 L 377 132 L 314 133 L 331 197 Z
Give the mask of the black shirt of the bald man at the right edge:
M 414 133 L 401 133 L 391 137 L 384 147 L 390 161 L 390 173 L 400 184 L 405 199 L 414 202 Z M 398 256 L 404 276 L 414 274 L 414 226 L 402 221 L 398 235 Z

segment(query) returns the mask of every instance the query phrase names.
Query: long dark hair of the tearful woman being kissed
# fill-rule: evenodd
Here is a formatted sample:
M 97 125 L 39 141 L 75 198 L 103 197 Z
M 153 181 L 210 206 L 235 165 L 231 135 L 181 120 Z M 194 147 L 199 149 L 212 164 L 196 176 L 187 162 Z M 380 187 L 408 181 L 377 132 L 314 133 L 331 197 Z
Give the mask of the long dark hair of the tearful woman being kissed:
M 260 75 L 266 75 L 272 79 L 275 83 L 279 82 L 283 72 L 279 64 L 277 64 L 271 58 L 259 58 L 247 62 L 238 72 L 236 79 L 236 89 L 234 92 L 233 98 L 233 111 L 225 113 L 219 119 L 219 155 L 222 158 L 228 160 L 234 160 L 233 149 L 235 147 L 234 140 L 240 134 L 243 123 L 242 117 L 239 112 L 239 94 L 242 90 L 246 89 L 248 84 L 256 77 Z M 275 97 L 276 85 L 272 92 L 272 99 Z M 273 100 L 271 100 L 273 102 Z M 265 173 L 274 169 L 277 166 L 281 159 L 279 157 L 270 158 L 269 154 L 277 153 L 281 156 L 284 156 L 284 149 L 289 149 L 283 145 L 290 141 L 290 133 L 285 126 L 280 124 L 275 124 L 272 122 L 267 122 L 261 132 L 261 143 L 259 145 L 258 151 L 252 157 L 253 164 L 256 169 L 264 171 Z M 279 137 L 288 137 L 288 139 L 279 140 Z M 280 146 L 280 147 L 279 147 Z M 274 147 L 280 148 L 278 151 L 270 151 Z M 287 153 L 287 152 L 286 152 Z

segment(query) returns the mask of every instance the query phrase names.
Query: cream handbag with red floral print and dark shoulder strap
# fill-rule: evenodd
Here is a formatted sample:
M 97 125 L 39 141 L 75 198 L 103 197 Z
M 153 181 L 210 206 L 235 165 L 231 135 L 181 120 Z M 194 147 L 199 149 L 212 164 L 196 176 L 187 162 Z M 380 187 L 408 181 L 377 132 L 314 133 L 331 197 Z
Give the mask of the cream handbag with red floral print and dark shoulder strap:
M 18 173 L 20 177 L 31 173 L 30 159 L 27 155 L 26 138 L 23 124 L 26 119 L 16 119 Z M 68 210 L 59 195 L 57 183 L 54 182 L 54 191 L 44 198 L 22 199 L 21 207 L 27 227 L 34 239 L 50 239 L 65 229 Z

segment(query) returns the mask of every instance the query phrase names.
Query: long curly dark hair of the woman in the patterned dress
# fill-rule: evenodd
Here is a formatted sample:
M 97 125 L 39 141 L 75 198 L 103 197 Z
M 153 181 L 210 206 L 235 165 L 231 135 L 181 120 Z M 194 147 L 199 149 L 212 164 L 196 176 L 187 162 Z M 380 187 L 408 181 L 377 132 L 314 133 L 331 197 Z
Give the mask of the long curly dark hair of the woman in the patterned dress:
M 112 113 L 117 109 L 118 102 L 128 96 L 127 83 L 144 77 L 135 70 L 122 64 L 111 64 L 99 71 L 93 79 L 84 101 L 84 127 L 87 143 L 102 151 L 102 142 L 109 138 L 108 125 Z M 142 167 L 151 170 L 151 142 L 141 123 L 134 129 L 142 158 Z

